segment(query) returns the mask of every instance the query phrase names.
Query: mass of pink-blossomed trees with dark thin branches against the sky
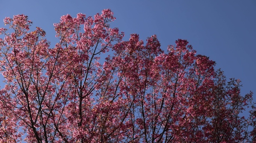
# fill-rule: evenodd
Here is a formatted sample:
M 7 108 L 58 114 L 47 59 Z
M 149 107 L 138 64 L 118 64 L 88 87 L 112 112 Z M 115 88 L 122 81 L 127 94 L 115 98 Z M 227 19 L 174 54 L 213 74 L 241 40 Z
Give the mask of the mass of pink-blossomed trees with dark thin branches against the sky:
M 254 142 L 252 92 L 242 96 L 240 80 L 186 40 L 166 52 L 156 35 L 122 41 L 114 20 L 109 9 L 62 16 L 51 47 L 27 16 L 4 19 L 0 143 Z

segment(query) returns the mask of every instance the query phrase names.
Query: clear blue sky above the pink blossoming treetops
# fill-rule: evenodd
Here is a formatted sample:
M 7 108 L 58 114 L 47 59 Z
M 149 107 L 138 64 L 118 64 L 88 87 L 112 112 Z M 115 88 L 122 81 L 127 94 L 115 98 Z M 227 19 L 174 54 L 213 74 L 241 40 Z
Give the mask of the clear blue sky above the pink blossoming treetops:
M 93 16 L 103 9 L 114 12 L 111 25 L 125 32 L 125 40 L 132 33 L 143 40 L 156 34 L 166 51 L 176 39 L 187 39 L 198 54 L 216 61 L 227 78 L 240 79 L 242 93 L 252 90 L 256 99 L 255 0 L 2 0 L 0 27 L 5 17 L 25 14 L 34 27 L 46 31 L 53 47 L 53 23 L 62 15 Z

